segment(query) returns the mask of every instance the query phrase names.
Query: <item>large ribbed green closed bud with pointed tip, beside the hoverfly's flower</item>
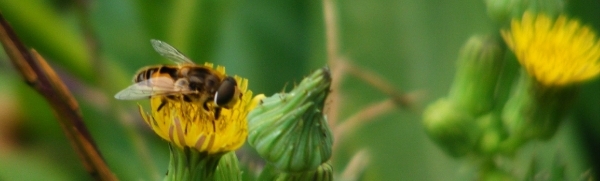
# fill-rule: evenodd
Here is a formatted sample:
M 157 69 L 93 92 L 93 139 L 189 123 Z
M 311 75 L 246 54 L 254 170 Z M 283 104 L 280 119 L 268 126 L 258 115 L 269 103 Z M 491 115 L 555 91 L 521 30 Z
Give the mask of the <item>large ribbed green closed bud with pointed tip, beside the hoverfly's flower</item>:
M 248 115 L 248 143 L 284 171 L 309 171 L 331 157 L 333 137 L 323 115 L 331 77 L 323 68 L 289 93 L 261 100 Z

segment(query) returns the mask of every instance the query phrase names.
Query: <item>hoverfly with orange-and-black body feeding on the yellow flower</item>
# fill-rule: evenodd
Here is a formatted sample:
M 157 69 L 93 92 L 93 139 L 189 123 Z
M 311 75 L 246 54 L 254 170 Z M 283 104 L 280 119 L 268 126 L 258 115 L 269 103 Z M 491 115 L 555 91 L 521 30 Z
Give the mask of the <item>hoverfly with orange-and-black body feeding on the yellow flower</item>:
M 115 95 L 120 100 L 137 100 L 153 96 L 185 102 L 200 102 L 205 110 L 213 101 L 217 117 L 221 108 L 231 108 L 242 97 L 233 77 L 212 67 L 197 65 L 173 46 L 160 40 L 150 40 L 154 50 L 177 65 L 157 65 L 140 69 L 133 77 L 133 85 Z M 158 106 L 158 110 L 166 101 Z M 157 111 L 158 111 L 157 110 Z

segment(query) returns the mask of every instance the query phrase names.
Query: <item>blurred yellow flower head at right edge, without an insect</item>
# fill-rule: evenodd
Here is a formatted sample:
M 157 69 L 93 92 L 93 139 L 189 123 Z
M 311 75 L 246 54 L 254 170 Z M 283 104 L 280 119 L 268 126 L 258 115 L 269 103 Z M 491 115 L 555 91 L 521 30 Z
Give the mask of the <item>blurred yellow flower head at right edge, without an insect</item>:
M 591 79 L 600 73 L 600 42 L 594 32 L 565 16 L 555 21 L 529 12 L 512 20 L 502 37 L 519 63 L 538 82 L 563 86 Z

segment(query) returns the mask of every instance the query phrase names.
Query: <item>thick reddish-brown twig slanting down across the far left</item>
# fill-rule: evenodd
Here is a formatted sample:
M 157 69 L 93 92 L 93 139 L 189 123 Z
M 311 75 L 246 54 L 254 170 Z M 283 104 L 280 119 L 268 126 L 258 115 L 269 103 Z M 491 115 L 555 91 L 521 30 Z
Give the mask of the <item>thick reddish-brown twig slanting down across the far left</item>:
M 52 105 L 54 113 L 88 173 L 96 180 L 117 180 L 100 155 L 83 123 L 77 101 L 46 60 L 35 50 L 27 50 L 0 14 L 0 41 L 25 82 Z

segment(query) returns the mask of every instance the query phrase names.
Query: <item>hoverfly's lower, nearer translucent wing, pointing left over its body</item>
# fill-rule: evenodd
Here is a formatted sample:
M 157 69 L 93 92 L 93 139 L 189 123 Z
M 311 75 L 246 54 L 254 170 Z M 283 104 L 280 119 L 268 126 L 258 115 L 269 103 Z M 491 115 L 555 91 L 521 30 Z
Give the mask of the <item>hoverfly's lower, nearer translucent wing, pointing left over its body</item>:
M 155 77 L 135 83 L 115 95 L 120 100 L 137 100 L 157 95 L 173 95 L 190 93 L 189 90 L 178 90 L 175 82 L 167 77 Z

